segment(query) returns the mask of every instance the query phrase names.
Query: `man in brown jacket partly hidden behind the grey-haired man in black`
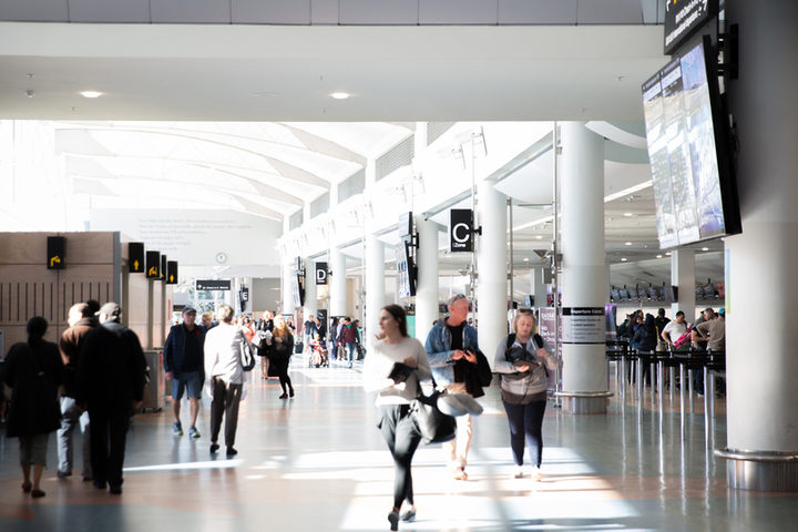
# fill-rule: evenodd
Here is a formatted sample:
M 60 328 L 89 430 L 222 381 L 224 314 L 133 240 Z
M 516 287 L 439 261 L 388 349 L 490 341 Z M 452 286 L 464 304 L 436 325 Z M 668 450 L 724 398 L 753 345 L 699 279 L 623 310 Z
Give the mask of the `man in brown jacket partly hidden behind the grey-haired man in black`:
M 64 364 L 64 388 L 61 393 L 61 428 L 58 430 L 59 452 L 59 479 L 65 479 L 72 474 L 72 433 L 80 424 L 83 432 L 83 480 L 92 480 L 89 412 L 81 409 L 75 400 L 78 362 L 80 352 L 85 341 L 85 336 L 95 326 L 95 318 L 91 308 L 85 303 L 72 305 L 69 310 L 68 321 L 70 328 L 64 330 L 59 340 L 61 359 Z

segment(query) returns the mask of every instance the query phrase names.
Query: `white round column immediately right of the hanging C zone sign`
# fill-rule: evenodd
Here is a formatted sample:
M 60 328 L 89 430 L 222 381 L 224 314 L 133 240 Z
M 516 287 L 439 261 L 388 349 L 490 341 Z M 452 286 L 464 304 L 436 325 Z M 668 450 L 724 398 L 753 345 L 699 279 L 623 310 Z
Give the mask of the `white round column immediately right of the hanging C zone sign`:
M 479 345 L 491 366 L 497 346 L 507 336 L 508 224 L 507 196 L 493 182 L 481 181 L 477 188 L 478 224 L 482 226 L 477 257 L 477 319 Z

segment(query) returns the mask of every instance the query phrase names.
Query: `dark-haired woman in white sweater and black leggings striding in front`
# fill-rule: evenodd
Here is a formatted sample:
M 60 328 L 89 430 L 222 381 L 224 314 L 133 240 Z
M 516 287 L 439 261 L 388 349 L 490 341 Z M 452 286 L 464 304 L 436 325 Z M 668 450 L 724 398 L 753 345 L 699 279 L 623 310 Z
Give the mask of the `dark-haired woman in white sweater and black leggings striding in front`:
M 364 364 L 364 388 L 377 391 L 379 427 L 393 457 L 393 508 L 388 513 L 390 530 L 397 530 L 399 519 L 413 521 L 416 504 L 410 464 L 421 441 L 421 434 L 410 416 L 410 402 L 419 393 L 419 381 L 430 378 L 427 351 L 419 340 L 407 334 L 405 309 L 388 305 L 380 310 L 381 340 Z M 402 502 L 410 508 L 399 515 Z

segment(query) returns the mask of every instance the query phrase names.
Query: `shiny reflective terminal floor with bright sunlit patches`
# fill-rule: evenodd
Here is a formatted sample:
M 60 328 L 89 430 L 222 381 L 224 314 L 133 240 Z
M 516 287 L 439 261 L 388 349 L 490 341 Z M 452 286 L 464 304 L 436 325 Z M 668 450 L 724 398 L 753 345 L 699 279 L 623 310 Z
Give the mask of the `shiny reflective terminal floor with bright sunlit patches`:
M 346 368 L 293 370 L 297 395 L 254 381 L 242 405 L 232 460 L 208 453 L 209 402 L 200 431 L 172 436 L 171 413 L 137 416 L 127 437 L 124 493 L 100 492 L 50 469 L 33 501 L 20 490 L 17 440 L 0 439 L 0 531 L 366 531 L 388 530 L 393 469 L 375 427 L 374 398 Z M 451 480 L 438 447 L 421 447 L 413 480 L 415 523 L 434 531 L 782 531 L 798 530 L 798 494 L 726 489 L 724 405 L 705 431 L 703 402 L 664 412 L 646 392 L 611 402 L 604 416 L 571 416 L 550 402 L 543 426 L 544 478 L 513 479 L 498 389 L 474 421 L 469 480 Z M 184 407 L 183 422 L 186 426 Z M 2 429 L 0 429 L 2 431 Z M 80 461 L 76 464 L 80 470 Z

